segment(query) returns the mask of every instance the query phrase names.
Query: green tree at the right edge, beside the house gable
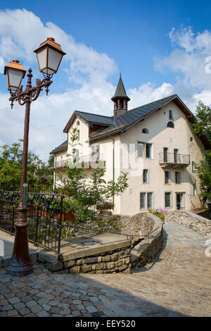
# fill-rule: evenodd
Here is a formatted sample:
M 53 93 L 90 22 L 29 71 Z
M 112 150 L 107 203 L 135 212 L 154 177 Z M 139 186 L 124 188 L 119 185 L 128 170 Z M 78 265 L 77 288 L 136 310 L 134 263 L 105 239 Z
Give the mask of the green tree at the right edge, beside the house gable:
M 193 130 L 199 135 L 205 135 L 211 144 L 211 108 L 198 102 L 196 108 L 196 122 L 193 123 Z M 205 152 L 205 161 L 196 164 L 196 170 L 200 179 L 200 195 L 203 200 L 211 199 L 211 150 Z

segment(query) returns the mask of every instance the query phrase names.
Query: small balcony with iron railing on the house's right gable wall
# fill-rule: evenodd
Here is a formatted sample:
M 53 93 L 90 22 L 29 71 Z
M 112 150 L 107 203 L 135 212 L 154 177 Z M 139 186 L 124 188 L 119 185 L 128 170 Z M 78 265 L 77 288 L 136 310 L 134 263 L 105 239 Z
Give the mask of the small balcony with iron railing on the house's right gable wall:
M 189 154 L 160 153 L 159 163 L 162 168 L 185 168 L 190 164 Z

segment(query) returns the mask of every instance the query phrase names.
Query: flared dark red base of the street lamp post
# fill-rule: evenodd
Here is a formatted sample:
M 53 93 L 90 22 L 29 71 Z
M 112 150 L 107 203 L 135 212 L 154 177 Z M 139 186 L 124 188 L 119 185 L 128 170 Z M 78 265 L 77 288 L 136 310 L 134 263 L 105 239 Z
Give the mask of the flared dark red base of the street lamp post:
M 6 268 L 6 273 L 14 276 L 27 276 L 33 273 L 33 266 L 30 261 L 27 222 L 15 223 L 15 242 L 13 247 L 13 256 L 11 263 Z

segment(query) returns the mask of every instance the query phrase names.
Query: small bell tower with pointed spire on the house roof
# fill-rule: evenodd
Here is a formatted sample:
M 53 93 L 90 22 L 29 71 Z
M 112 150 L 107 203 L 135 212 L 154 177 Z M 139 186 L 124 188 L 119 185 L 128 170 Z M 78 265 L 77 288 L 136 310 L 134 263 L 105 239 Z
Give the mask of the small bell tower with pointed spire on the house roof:
M 117 118 L 120 115 L 123 115 L 124 113 L 127 113 L 127 101 L 129 101 L 130 99 L 125 92 L 121 74 L 115 95 L 111 98 L 111 100 L 114 103 L 113 112 L 115 118 Z

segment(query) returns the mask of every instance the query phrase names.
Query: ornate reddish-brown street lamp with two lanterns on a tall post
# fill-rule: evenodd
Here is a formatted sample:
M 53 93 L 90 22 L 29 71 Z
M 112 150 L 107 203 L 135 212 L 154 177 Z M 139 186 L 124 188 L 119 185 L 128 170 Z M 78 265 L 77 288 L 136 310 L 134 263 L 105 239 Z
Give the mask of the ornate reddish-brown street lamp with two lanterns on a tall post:
M 8 63 L 4 69 L 8 90 L 11 93 L 10 101 L 11 108 L 13 102 L 18 101 L 21 106 L 25 105 L 25 125 L 23 138 L 23 163 L 20 187 L 20 204 L 18 205 L 18 219 L 15 223 L 15 242 L 13 246 L 13 255 L 11 263 L 6 269 L 10 275 L 25 276 L 33 272 L 32 263 L 30 261 L 28 232 L 27 227 L 27 204 L 25 203 L 27 182 L 27 152 L 28 152 L 28 136 L 30 124 L 30 104 L 35 101 L 42 88 L 46 89 L 46 95 L 49 92 L 49 86 L 52 83 L 51 77 L 57 72 L 65 53 L 59 44 L 56 44 L 53 38 L 48 38 L 45 42 L 39 45 L 39 48 L 34 51 L 37 54 L 39 70 L 44 75 L 44 80 L 36 80 L 36 87 L 32 87 L 32 69 L 28 70 L 28 80 L 25 91 L 21 81 L 25 77 L 23 65 L 18 60 L 13 60 Z M 25 193 L 25 196 L 24 196 Z

